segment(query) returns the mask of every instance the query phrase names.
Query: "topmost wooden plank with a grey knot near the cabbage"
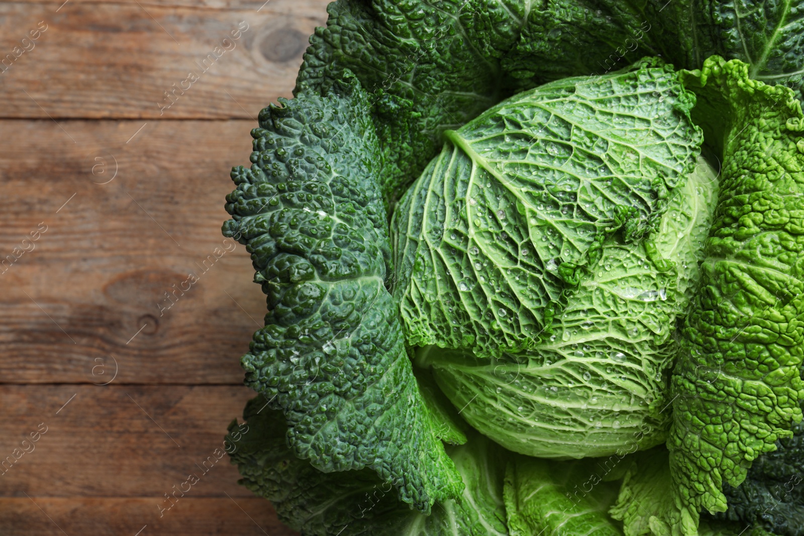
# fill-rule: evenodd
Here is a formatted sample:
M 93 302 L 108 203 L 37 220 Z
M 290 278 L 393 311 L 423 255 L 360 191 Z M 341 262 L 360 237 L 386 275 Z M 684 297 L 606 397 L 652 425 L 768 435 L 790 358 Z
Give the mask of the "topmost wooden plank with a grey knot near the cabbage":
M 248 10 L 69 2 L 56 12 L 60 3 L 0 3 L 2 117 L 256 117 L 291 96 L 327 1 Z

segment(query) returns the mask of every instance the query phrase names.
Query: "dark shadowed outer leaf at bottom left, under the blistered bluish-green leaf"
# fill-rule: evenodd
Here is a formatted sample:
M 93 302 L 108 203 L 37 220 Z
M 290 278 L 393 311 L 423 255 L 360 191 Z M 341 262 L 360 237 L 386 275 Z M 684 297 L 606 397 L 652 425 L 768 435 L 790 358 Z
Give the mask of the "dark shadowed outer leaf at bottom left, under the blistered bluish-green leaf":
M 506 536 L 501 449 L 478 434 L 450 447 L 466 489 L 422 515 L 396 499 L 369 469 L 322 473 L 285 444 L 285 420 L 258 396 L 244 424 L 229 425 L 228 452 L 240 480 L 269 499 L 282 522 L 303 536 Z

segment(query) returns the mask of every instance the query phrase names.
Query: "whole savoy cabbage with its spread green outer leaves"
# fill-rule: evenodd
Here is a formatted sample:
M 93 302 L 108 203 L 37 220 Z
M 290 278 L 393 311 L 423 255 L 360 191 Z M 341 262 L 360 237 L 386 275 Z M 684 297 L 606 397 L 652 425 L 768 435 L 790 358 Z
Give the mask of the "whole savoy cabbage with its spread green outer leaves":
M 227 197 L 242 482 L 302 534 L 804 534 L 804 0 L 327 9 Z

